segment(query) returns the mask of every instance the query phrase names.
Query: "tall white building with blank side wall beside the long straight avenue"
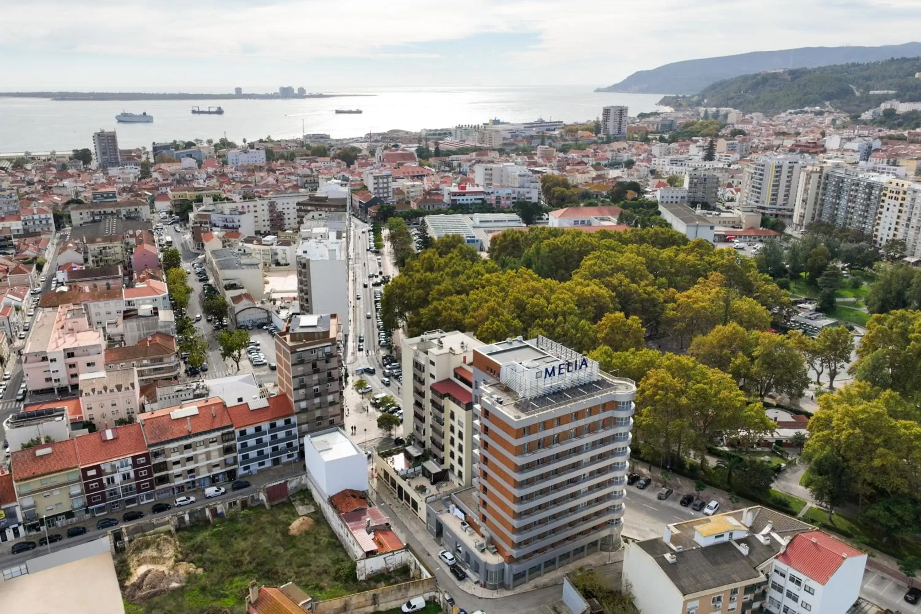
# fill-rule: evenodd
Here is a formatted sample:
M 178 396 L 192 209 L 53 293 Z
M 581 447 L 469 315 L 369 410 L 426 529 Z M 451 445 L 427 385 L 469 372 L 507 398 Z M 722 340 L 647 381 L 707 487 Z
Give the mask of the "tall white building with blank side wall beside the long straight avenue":
M 297 246 L 297 301 L 301 313 L 347 314 L 348 242 L 330 228 L 302 230 Z M 348 338 L 349 318 L 340 320 Z

